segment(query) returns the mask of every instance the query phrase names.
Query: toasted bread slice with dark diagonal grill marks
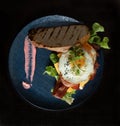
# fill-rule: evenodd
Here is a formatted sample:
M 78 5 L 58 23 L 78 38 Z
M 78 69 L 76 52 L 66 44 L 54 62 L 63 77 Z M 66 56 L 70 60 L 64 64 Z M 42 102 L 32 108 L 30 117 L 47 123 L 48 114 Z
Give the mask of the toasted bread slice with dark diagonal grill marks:
M 83 44 L 89 38 L 85 25 L 68 25 L 57 27 L 38 27 L 28 31 L 28 37 L 38 48 L 47 48 L 56 52 L 65 52 L 74 44 Z

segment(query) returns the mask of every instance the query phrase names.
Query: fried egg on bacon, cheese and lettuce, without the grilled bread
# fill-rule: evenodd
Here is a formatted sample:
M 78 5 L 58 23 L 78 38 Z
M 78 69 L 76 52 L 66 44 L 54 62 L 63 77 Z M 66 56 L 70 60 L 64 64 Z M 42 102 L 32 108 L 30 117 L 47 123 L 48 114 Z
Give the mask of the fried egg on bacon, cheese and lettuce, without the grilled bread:
M 54 67 L 47 66 L 45 73 L 57 80 L 52 90 L 53 96 L 72 104 L 72 95 L 94 78 L 99 66 L 96 57 L 96 50 L 88 43 L 73 46 L 67 52 L 51 53 Z

